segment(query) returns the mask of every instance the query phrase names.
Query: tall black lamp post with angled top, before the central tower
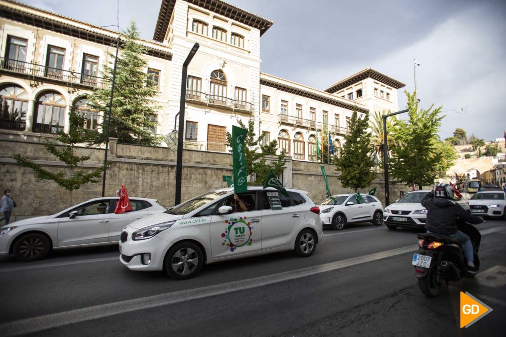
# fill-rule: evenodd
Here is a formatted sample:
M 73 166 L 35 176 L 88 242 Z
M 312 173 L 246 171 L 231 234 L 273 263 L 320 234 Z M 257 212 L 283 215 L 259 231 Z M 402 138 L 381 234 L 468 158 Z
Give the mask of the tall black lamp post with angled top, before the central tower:
M 181 99 L 179 100 L 179 134 L 178 134 L 178 157 L 176 162 L 176 195 L 174 204 L 181 203 L 181 180 L 183 176 L 183 135 L 185 129 L 185 104 L 186 104 L 186 77 L 188 77 L 188 65 L 197 53 L 200 45 L 196 42 L 183 63 L 181 75 Z

